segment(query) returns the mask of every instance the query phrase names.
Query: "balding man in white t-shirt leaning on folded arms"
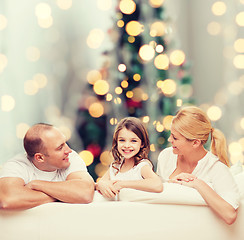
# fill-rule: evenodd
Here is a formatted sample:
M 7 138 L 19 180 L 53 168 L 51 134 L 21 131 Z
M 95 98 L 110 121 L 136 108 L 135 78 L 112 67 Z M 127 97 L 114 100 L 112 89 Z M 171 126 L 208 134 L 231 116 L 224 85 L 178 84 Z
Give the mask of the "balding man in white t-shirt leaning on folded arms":
M 32 126 L 26 154 L 10 159 L 0 173 L 0 207 L 27 209 L 44 203 L 90 203 L 94 181 L 64 135 L 49 124 Z

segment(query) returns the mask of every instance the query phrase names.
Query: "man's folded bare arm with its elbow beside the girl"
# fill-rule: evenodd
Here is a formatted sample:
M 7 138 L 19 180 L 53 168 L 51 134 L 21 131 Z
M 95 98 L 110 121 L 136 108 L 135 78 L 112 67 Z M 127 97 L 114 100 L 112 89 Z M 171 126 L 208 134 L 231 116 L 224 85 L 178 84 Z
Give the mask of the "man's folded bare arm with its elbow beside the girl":
M 26 186 L 67 203 L 90 203 L 94 195 L 94 181 L 87 172 L 82 171 L 70 173 L 66 181 L 34 180 Z

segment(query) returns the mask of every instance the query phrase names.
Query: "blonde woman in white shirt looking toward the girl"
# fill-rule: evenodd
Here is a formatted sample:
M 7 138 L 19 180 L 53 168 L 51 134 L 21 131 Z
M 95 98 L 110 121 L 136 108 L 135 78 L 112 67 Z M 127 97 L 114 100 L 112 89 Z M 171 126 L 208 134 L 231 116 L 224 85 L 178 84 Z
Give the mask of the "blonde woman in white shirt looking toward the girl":
M 204 144 L 211 137 L 211 152 Z M 158 158 L 163 181 L 195 188 L 208 206 L 227 224 L 234 223 L 239 193 L 229 171 L 223 133 L 211 126 L 197 107 L 185 107 L 173 118 L 169 142 Z

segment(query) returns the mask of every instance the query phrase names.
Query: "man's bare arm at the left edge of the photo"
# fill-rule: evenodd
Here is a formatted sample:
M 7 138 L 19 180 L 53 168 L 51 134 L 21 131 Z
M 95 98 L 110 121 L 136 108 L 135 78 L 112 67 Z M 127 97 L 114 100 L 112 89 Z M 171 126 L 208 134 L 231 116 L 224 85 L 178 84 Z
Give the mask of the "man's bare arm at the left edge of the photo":
M 0 208 L 2 209 L 28 209 L 56 201 L 43 192 L 27 188 L 21 178 L 1 178 L 0 189 Z

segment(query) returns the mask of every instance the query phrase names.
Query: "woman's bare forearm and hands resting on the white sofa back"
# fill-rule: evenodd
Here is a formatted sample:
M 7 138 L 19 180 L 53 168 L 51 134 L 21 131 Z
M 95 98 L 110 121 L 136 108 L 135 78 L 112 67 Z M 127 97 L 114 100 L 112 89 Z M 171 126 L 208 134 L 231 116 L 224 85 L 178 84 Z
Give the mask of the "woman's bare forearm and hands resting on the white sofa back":
M 195 188 L 203 197 L 208 206 L 227 224 L 235 222 L 237 210 L 219 196 L 206 182 L 192 174 L 181 173 L 171 182 Z

